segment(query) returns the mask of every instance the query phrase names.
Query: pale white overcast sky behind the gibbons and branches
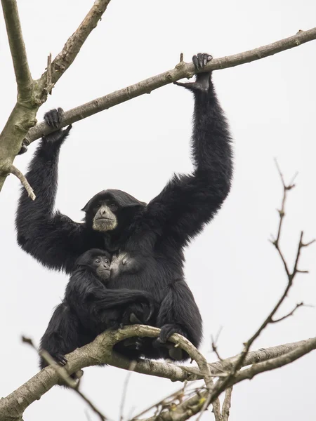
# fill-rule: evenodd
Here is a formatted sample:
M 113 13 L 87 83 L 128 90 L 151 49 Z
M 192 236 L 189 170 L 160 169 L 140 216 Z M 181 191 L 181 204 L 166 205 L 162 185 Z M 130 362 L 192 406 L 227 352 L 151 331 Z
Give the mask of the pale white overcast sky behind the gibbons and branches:
M 32 75 L 44 72 L 48 53 L 62 49 L 92 1 L 18 1 Z M 48 101 L 39 110 L 65 110 L 173 68 L 184 53 L 223 57 L 256 48 L 315 27 L 312 0 L 112 0 L 98 27 Z M 287 281 L 268 242 L 277 229 L 282 185 L 296 171 L 289 193 L 282 248 L 293 262 L 300 230 L 316 237 L 315 93 L 316 42 L 272 58 L 215 72 L 218 98 L 230 121 L 235 176 L 223 209 L 185 251 L 187 283 L 204 320 L 202 352 L 209 361 L 211 334 L 223 331 L 218 350 L 237 354 L 275 305 Z M 15 77 L 3 17 L 0 17 L 0 127 L 15 104 Z M 60 154 L 56 207 L 74 220 L 98 191 L 123 189 L 141 201 L 159 193 L 173 172 L 189 172 L 192 95 L 169 85 L 74 124 Z M 15 165 L 25 171 L 38 142 Z M 48 272 L 22 252 L 14 218 L 20 186 L 13 176 L 0 194 L 0 396 L 37 373 L 37 355 L 22 345 L 22 334 L 39 343 L 67 277 Z M 316 305 L 316 248 L 304 249 L 300 275 L 279 316 L 297 302 Z M 254 349 L 315 336 L 316 309 L 269 326 Z M 230 421 L 315 420 L 316 354 L 237 385 Z M 82 391 L 113 420 L 119 415 L 126 372 L 86 368 Z M 134 414 L 180 384 L 133 373 L 125 413 Z M 25 421 L 87 420 L 86 404 L 72 391 L 54 387 L 25 412 Z M 205 419 L 212 417 L 204 415 Z M 90 413 L 91 420 L 96 416 Z M 209 418 L 210 419 L 210 418 Z

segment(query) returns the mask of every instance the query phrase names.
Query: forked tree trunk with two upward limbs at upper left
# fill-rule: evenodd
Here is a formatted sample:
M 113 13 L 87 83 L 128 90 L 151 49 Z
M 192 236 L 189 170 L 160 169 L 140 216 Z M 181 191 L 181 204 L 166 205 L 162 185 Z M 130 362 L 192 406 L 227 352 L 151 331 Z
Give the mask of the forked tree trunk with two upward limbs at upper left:
M 8 175 L 6 168 L 13 163 L 15 156 L 20 152 L 22 140 L 29 128 L 37 123 L 36 115 L 39 107 L 47 100 L 47 95 L 51 93 L 54 83 L 60 79 L 60 76 L 76 58 L 84 41 L 98 24 L 110 0 L 94 2 L 77 31 L 67 40 L 61 53 L 52 63 L 48 57 L 47 71 L 37 81 L 32 80 L 27 65 L 16 0 L 1 0 L 1 3 L 18 83 L 18 101 L 0 134 L 0 191 Z M 23 149 L 26 150 L 26 147 L 27 140 Z

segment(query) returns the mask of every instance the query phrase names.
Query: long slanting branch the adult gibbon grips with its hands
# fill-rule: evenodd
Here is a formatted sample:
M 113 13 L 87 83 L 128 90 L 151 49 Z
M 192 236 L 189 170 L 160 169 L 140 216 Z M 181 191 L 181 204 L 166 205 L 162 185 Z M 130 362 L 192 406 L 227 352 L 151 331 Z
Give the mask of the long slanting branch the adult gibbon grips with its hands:
M 204 67 L 204 71 L 226 69 L 227 67 L 243 65 L 244 63 L 260 60 L 269 55 L 289 50 L 289 48 L 297 47 L 305 42 L 312 41 L 313 39 L 316 39 L 316 28 L 298 32 L 298 34 L 290 36 L 289 38 L 254 50 L 245 51 L 244 53 L 229 55 L 223 58 L 214 58 L 209 62 L 209 65 Z M 70 109 L 65 112 L 62 126 L 68 126 L 70 123 L 86 119 L 88 116 L 92 116 L 104 109 L 114 107 L 114 105 L 121 104 L 121 102 L 136 98 L 144 93 L 151 93 L 154 89 L 161 88 L 162 86 L 183 79 L 184 77 L 190 78 L 195 73 L 195 67 L 191 62 L 185 63 L 182 61 L 172 70 L 158 74 L 157 76 L 152 76 L 149 79 L 145 79 L 144 81 L 128 86 L 127 88 L 120 89 L 119 91 L 112 92 L 103 97 L 96 98 L 91 102 L 86 102 L 84 105 Z M 41 138 L 43 134 L 47 135 L 48 133 L 51 133 L 51 130 L 46 126 L 44 121 L 42 121 L 29 131 L 27 140 L 33 142 L 34 140 Z

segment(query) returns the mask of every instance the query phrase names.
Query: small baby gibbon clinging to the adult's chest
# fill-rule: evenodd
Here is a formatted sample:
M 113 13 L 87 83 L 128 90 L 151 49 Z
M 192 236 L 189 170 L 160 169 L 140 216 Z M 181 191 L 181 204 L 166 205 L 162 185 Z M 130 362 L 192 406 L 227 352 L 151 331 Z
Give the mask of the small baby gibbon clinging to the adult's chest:
M 106 329 L 119 328 L 120 321 L 129 324 L 129 305 L 142 305 L 147 319 L 154 314 L 150 293 L 140 290 L 107 289 L 110 278 L 110 254 L 93 248 L 82 254 L 65 290 L 65 297 L 55 308 L 48 328 L 41 338 L 45 349 L 61 365 L 65 354 L 93 341 Z M 41 358 L 40 367 L 47 366 Z

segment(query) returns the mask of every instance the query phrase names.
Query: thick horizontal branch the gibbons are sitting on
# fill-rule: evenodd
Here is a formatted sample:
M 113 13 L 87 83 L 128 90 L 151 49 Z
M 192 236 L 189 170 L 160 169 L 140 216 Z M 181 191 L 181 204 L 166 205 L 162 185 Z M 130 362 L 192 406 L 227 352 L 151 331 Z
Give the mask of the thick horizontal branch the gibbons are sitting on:
M 112 347 L 119 340 L 131 338 L 133 336 L 150 337 L 155 338 L 159 335 L 159 329 L 152 328 L 151 326 L 126 326 L 124 329 L 117 330 L 116 332 L 105 332 L 99 335 L 96 340 L 76 349 L 71 354 L 67 355 L 67 370 L 70 373 L 81 370 L 81 368 L 88 366 L 95 366 L 98 364 L 110 364 L 119 368 L 130 370 L 131 361 L 124 359 L 112 352 Z M 178 340 L 178 337 L 173 337 L 174 341 Z M 289 352 L 295 352 L 302 347 L 310 349 L 310 342 L 313 342 L 316 348 L 316 338 L 310 340 L 294 342 L 293 344 L 279 345 L 278 347 L 272 347 L 268 349 L 259 349 L 257 352 L 250 352 L 244 361 L 245 364 L 255 363 L 271 359 L 275 356 L 282 354 L 289 354 Z M 225 359 L 218 361 L 217 363 L 211 363 L 211 372 L 216 374 L 222 373 L 228 370 L 232 365 L 235 364 L 236 359 L 239 356 L 232 357 L 231 359 Z M 202 379 L 202 373 L 194 367 L 176 366 L 171 363 L 162 363 L 158 361 L 143 360 L 138 361 L 133 370 L 137 373 L 143 373 L 148 375 L 155 375 L 159 377 L 168 378 L 173 382 L 186 380 L 199 380 Z M 242 371 L 242 373 L 244 373 Z M 58 382 L 59 375 L 56 373 L 53 367 L 47 367 L 41 370 L 37 375 L 28 380 L 24 385 L 20 386 L 15 392 L 6 396 L 6 398 L 0 399 L 0 421 L 16 421 L 22 418 L 22 414 L 32 402 L 40 399 L 40 397 L 48 392 L 53 385 Z M 242 379 L 244 380 L 244 379 Z M 241 381 L 241 380 L 240 380 Z M 213 394 L 212 394 L 213 396 Z M 216 396 L 217 397 L 217 396 Z M 205 401 L 205 399 L 204 399 Z M 13 409 L 12 409 L 13 408 Z

